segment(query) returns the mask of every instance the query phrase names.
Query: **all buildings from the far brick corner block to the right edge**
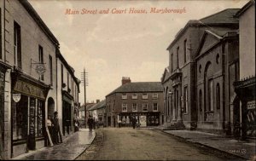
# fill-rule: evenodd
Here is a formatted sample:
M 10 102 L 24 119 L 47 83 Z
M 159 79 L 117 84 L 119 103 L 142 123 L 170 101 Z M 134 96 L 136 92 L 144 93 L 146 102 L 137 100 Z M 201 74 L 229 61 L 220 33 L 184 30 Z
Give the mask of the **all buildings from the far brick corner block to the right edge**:
M 254 6 L 189 20 L 167 48 L 161 82 L 122 78 L 106 95 L 107 126 L 135 117 L 141 126 L 255 137 Z

